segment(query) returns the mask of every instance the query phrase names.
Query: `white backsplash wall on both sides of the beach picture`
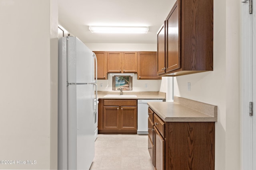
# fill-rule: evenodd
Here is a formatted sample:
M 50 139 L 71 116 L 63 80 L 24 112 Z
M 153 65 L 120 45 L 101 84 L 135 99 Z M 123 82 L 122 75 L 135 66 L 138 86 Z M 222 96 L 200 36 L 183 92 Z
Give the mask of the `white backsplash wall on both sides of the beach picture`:
M 98 91 L 112 91 L 112 77 L 108 75 L 108 80 L 98 80 Z M 137 80 L 137 74 L 132 76 L 132 91 L 134 92 L 158 92 L 161 80 Z

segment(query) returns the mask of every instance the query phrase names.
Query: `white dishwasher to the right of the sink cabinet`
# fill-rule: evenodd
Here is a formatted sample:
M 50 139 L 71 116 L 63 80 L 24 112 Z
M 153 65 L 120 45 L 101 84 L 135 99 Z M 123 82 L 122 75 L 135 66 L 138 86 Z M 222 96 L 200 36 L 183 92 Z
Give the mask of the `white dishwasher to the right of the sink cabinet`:
M 138 99 L 137 134 L 148 134 L 148 102 L 162 102 L 162 99 Z

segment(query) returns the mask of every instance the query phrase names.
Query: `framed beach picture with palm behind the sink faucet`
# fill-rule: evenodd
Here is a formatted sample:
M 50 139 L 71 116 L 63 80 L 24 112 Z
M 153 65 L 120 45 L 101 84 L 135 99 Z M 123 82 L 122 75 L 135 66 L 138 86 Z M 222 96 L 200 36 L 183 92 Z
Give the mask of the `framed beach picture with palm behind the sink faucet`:
M 112 90 L 132 90 L 132 76 L 113 76 L 112 83 Z

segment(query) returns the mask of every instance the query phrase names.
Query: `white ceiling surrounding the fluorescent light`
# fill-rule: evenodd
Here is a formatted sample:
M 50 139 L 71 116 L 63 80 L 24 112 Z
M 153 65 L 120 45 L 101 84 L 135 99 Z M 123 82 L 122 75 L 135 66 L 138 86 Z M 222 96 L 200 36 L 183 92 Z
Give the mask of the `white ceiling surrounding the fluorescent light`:
M 84 43 L 157 43 L 176 0 L 58 0 L 58 20 Z M 147 34 L 97 34 L 89 25 L 148 26 Z

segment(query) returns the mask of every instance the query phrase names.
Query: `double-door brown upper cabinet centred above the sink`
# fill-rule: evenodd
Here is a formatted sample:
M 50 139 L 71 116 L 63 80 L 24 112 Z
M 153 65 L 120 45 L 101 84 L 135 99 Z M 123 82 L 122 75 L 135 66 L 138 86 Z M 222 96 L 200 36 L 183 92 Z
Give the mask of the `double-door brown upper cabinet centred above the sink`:
M 136 73 L 137 72 L 137 52 L 107 52 L 107 72 L 108 73 Z

